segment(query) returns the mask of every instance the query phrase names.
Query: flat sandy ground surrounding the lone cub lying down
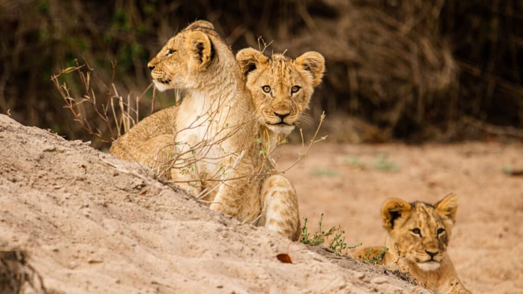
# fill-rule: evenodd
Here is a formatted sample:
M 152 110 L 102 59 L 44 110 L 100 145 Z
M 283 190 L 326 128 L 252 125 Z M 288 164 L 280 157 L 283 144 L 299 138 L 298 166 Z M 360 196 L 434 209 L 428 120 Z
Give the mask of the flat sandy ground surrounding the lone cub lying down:
M 282 146 L 279 169 L 301 146 Z M 300 213 L 316 224 L 342 225 L 348 243 L 384 244 L 386 198 L 436 202 L 454 192 L 458 218 L 449 256 L 474 293 L 523 293 L 523 145 L 342 145 L 320 142 L 286 173 Z M 315 227 L 315 225 L 314 225 Z

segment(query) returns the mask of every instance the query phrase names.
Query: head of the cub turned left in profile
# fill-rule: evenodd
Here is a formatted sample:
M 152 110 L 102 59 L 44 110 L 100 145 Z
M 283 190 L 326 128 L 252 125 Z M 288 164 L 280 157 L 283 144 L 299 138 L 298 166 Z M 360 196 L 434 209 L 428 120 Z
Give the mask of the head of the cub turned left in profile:
M 198 20 L 170 38 L 147 63 L 157 89 L 198 88 L 203 73 L 216 63 L 217 47 L 226 47 L 214 26 Z

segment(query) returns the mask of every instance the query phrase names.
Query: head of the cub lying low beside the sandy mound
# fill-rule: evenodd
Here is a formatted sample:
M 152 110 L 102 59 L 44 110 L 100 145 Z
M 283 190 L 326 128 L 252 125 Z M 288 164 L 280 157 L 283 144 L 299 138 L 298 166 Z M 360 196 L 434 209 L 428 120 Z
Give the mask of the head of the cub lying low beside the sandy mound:
M 383 203 L 383 224 L 389 232 L 387 246 L 422 270 L 436 270 L 446 254 L 456 220 L 457 197 L 453 194 L 435 205 L 389 199 Z

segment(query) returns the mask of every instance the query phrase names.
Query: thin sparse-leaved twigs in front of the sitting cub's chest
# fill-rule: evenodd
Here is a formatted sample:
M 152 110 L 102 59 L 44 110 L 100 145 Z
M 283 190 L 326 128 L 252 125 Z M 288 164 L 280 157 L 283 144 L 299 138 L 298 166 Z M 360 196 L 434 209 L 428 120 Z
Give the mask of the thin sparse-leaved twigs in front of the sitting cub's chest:
M 219 148 L 220 150 L 224 149 L 224 146 L 227 145 L 225 142 L 231 138 L 237 131 L 245 127 L 248 123 L 252 121 L 258 121 L 259 114 L 257 110 L 251 115 L 246 116 L 247 120 L 238 122 L 236 125 L 230 125 L 226 123 L 224 126 L 221 126 L 217 131 L 212 131 L 211 129 L 215 127 L 215 122 L 220 121 L 219 116 L 228 117 L 230 112 L 230 107 L 224 107 L 220 99 L 213 101 L 213 104 L 208 107 L 208 111 L 205 112 L 203 117 L 198 117 L 189 124 L 187 129 L 177 130 L 174 134 L 172 142 L 166 142 L 162 149 L 158 150 L 154 160 L 153 166 L 151 169 L 146 168 L 148 171 L 153 172 L 155 178 L 163 180 L 167 184 L 181 184 L 188 183 L 192 187 L 200 188 L 201 192 L 199 195 L 195 195 L 199 201 L 211 203 L 208 199 L 209 195 L 212 195 L 214 191 L 217 191 L 221 185 L 227 185 L 229 181 L 237 180 L 240 178 L 248 178 L 249 182 L 259 181 L 261 178 L 268 177 L 270 175 L 283 174 L 296 164 L 298 164 L 303 157 L 305 157 L 312 146 L 315 143 L 321 142 L 327 138 L 327 136 L 319 136 L 319 131 L 322 127 L 322 123 L 325 119 L 325 115 L 319 119 L 316 130 L 312 135 L 312 138 L 305 141 L 303 137 L 302 129 L 299 130 L 301 135 L 301 144 L 302 149 L 296 155 L 295 160 L 288 166 L 280 168 L 279 171 L 275 169 L 277 164 L 277 157 L 273 156 L 280 146 L 285 145 L 288 141 L 286 137 L 278 138 L 276 140 L 276 145 L 272 146 L 269 142 L 273 141 L 268 133 L 259 134 L 260 137 L 253 138 L 251 144 L 258 145 L 256 148 L 255 156 L 258 156 L 258 159 L 245 159 L 247 161 L 256 162 L 256 166 L 250 173 L 246 174 L 235 174 L 232 176 L 233 171 L 235 171 L 237 165 L 240 161 L 244 160 L 246 150 L 242 151 L 231 151 L 230 153 L 222 154 L 221 157 L 215 157 L 212 152 L 213 148 Z M 218 107 L 215 107 L 218 106 Z M 221 111 L 223 109 L 229 109 L 228 111 Z M 217 109 L 217 110 L 211 110 Z M 220 110 L 221 109 L 221 110 Z M 187 142 L 178 141 L 177 138 L 180 134 L 183 134 L 184 131 L 195 128 L 205 128 L 205 132 L 202 135 L 202 138 L 196 144 L 188 144 Z M 212 134 L 212 135 L 211 135 Z M 167 154 L 167 156 L 165 156 Z M 201 173 L 199 172 L 198 165 L 200 163 L 206 164 L 209 162 L 216 162 L 225 157 L 231 157 L 235 160 L 229 165 L 217 166 L 213 169 L 213 172 Z M 169 178 L 168 172 L 171 169 L 175 169 L 180 174 L 189 174 L 191 175 L 190 179 L 180 179 L 180 180 L 171 180 Z M 167 179 L 165 179 L 167 176 Z

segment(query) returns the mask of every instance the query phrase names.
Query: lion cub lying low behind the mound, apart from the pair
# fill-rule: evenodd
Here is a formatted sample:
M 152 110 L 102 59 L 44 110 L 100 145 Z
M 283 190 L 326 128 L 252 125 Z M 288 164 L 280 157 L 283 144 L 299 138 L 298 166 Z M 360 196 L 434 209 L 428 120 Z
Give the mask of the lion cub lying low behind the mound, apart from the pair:
M 470 293 L 446 254 L 457 209 L 458 199 L 454 194 L 435 205 L 386 200 L 381 215 L 389 232 L 385 245 L 389 250 L 379 264 L 409 273 L 419 285 L 436 293 Z M 383 249 L 365 248 L 356 256 L 374 257 Z

